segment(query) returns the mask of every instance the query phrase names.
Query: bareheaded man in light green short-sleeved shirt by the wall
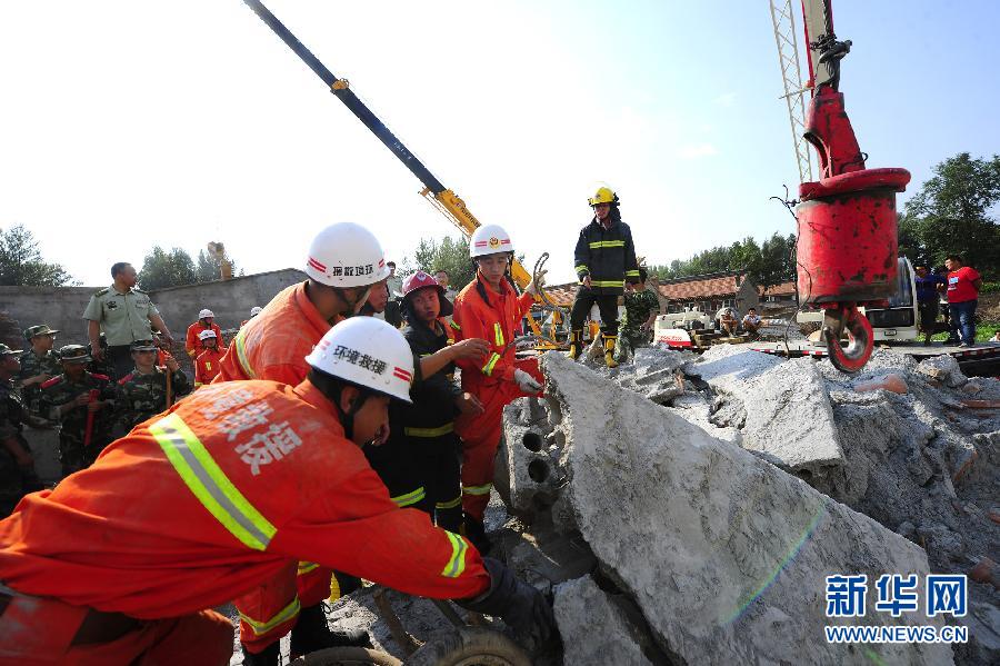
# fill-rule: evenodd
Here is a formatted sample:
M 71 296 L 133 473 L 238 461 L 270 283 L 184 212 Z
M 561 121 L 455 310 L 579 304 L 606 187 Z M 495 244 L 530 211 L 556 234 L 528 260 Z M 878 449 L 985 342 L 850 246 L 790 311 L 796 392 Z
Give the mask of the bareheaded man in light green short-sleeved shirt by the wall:
M 136 288 L 136 269 L 131 264 L 120 261 L 111 267 L 114 280 L 107 289 L 101 289 L 90 297 L 83 318 L 88 320 L 87 335 L 94 360 L 103 360 L 104 355 L 114 364 L 114 378 L 128 375 L 132 369 L 130 346 L 136 340 L 148 340 L 152 337 L 150 324 L 173 345 L 173 336 L 160 317 L 157 306 L 149 295 Z M 108 348 L 101 348 L 100 335 L 108 337 Z

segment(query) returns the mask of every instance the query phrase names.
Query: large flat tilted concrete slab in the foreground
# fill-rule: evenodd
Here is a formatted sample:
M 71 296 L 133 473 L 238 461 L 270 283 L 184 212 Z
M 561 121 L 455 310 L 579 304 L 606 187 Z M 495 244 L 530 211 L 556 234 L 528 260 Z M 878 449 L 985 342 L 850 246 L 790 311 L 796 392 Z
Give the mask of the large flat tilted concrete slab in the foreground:
M 522 425 L 541 429 L 551 471 L 566 479 L 556 505 L 569 505 L 571 521 L 556 527 L 579 530 L 671 660 L 868 662 L 824 640 L 824 576 L 923 575 L 919 547 L 582 366 L 550 354 L 542 367 L 549 431 Z M 940 645 L 873 652 L 951 660 Z

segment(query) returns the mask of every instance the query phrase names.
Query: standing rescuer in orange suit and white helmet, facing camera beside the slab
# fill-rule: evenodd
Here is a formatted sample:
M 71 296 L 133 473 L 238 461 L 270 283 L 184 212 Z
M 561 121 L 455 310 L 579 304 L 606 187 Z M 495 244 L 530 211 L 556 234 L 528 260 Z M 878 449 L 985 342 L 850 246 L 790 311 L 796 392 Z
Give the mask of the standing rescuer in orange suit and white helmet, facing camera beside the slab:
M 503 406 L 514 398 L 537 395 L 542 389 L 538 359 L 516 359 L 512 345 L 521 318 L 534 302 L 532 281 L 518 295 L 507 277 L 513 257 L 510 236 L 497 225 L 479 227 L 469 242 L 476 262 L 476 279 L 454 299 L 452 320 L 463 338 L 483 338 L 490 345 L 486 358 L 460 359 L 462 390 L 482 405 L 479 415 L 463 414 L 454 429 L 462 438 L 462 510 L 466 534 L 488 549 L 483 515 L 493 486 L 493 457 L 500 446 Z M 539 276 L 544 280 L 544 271 Z

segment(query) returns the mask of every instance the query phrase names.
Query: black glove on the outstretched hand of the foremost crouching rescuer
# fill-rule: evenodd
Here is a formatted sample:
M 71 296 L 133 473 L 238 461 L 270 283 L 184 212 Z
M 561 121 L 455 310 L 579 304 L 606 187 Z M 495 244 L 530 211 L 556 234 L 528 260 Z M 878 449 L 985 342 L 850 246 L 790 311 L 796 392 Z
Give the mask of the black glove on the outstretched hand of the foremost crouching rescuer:
M 490 574 L 490 589 L 476 599 L 457 599 L 456 604 L 502 618 L 531 642 L 532 649 L 542 647 L 558 635 L 556 614 L 542 593 L 518 580 L 499 559 L 483 557 L 482 564 Z

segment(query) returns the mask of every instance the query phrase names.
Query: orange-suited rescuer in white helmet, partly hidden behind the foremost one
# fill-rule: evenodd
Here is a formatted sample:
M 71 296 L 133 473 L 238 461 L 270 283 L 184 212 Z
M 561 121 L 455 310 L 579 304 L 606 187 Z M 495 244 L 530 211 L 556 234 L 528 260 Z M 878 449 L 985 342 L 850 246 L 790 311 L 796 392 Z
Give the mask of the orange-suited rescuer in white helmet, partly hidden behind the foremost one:
M 220 371 L 212 384 L 240 379 L 300 382 L 309 370 L 306 356 L 333 324 L 356 314 L 371 290 L 384 289 L 389 270 L 382 246 L 371 231 L 360 225 L 340 222 L 313 238 L 306 274 L 304 282 L 278 294 L 240 329 L 219 361 Z M 473 342 L 464 352 L 477 354 L 479 348 Z M 421 359 L 421 370 L 432 374 L 436 370 L 432 364 L 440 368 L 446 362 L 448 359 Z M 278 664 L 278 642 L 289 630 L 294 652 L 333 645 L 370 645 L 364 632 L 331 633 L 322 605 L 328 597 L 349 594 L 360 580 L 334 576 L 314 561 L 298 563 L 292 571 L 296 574 L 298 594 L 294 588 L 289 593 L 284 581 L 271 580 L 236 599 L 247 666 Z

